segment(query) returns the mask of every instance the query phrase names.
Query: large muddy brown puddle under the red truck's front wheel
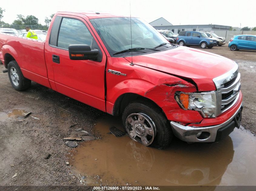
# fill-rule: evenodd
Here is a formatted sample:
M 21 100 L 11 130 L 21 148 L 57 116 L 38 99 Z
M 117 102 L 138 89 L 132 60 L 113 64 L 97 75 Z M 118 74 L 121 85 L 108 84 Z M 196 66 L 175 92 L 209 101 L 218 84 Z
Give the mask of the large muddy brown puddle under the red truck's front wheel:
M 102 139 L 84 142 L 69 155 L 73 173 L 87 185 L 256 185 L 256 138 L 235 128 L 219 143 L 187 144 L 175 138 L 167 150 L 145 147 L 122 129 L 120 118 L 105 115 L 95 131 Z M 84 176 L 84 177 L 83 177 Z

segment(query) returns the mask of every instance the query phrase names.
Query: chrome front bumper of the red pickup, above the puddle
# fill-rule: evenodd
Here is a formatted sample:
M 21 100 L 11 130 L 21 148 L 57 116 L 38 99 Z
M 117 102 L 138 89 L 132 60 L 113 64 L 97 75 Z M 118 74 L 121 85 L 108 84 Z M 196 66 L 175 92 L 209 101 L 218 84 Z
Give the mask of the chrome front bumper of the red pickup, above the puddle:
M 239 128 L 241 124 L 241 112 L 243 103 L 238 110 L 226 122 L 206 127 L 183 126 L 171 121 L 171 127 L 176 137 L 186 142 L 218 142 L 228 136 L 235 127 Z M 201 136 L 198 133 L 201 132 Z

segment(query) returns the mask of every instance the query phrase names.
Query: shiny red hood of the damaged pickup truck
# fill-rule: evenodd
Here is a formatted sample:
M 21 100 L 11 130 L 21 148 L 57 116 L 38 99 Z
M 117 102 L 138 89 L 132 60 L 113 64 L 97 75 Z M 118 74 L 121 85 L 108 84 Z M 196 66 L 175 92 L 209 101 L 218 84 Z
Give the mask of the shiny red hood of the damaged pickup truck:
M 131 57 L 125 59 L 131 62 Z M 216 90 L 212 79 L 228 72 L 236 65 L 234 61 L 223 56 L 184 46 L 133 56 L 132 61 L 135 65 L 191 78 L 197 84 L 198 91 Z

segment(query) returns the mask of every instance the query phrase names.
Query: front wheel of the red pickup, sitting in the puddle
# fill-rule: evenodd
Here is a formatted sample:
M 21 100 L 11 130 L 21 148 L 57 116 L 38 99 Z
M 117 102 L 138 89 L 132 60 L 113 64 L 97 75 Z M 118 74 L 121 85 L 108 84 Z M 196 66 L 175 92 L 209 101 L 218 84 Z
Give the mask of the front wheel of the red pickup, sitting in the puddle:
M 131 139 L 145 146 L 165 149 L 173 138 L 171 125 L 162 111 L 146 101 L 130 103 L 123 112 L 122 122 Z

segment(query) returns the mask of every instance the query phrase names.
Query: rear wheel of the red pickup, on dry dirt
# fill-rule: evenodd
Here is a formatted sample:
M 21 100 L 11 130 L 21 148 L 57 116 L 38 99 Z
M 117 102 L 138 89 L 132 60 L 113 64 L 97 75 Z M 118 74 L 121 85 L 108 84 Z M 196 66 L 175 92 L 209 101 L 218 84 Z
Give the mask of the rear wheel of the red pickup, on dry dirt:
M 25 78 L 16 61 L 11 61 L 8 64 L 8 76 L 12 87 L 18 91 L 24 91 L 30 88 L 31 80 Z

